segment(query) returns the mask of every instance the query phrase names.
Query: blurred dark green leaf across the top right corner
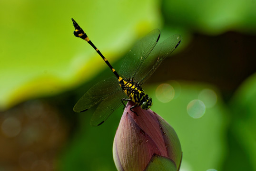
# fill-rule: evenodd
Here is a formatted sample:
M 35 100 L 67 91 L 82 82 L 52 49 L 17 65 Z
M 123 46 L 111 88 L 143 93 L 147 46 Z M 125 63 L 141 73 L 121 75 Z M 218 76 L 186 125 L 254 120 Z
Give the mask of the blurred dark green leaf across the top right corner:
M 164 0 L 163 14 L 171 26 L 216 35 L 228 30 L 255 34 L 255 0 Z

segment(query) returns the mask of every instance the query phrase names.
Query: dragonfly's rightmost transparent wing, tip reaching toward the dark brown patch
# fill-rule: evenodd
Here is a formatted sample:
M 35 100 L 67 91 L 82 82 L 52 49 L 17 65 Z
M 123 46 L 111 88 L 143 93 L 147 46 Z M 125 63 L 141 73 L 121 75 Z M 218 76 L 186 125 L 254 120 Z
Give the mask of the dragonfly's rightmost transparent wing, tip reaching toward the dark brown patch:
M 175 50 L 180 40 L 180 35 L 173 35 L 154 47 L 144 63 L 138 68 L 138 74 L 134 77 L 134 80 L 138 80 L 140 85 L 147 81 L 162 61 Z

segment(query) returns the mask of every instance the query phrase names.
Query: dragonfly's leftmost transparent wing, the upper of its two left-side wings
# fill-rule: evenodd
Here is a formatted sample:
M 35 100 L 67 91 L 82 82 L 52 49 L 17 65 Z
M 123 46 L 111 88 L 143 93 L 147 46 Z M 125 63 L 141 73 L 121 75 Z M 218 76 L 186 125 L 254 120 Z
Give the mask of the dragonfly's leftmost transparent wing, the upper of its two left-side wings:
M 75 104 L 75 112 L 84 112 L 102 102 L 108 95 L 122 91 L 116 77 L 109 77 L 91 87 Z

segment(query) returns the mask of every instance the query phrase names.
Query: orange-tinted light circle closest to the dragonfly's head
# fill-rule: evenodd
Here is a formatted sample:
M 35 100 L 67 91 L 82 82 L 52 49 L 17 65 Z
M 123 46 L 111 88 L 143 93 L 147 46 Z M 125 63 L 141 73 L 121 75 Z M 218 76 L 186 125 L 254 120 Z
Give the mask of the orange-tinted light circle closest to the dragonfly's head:
M 175 95 L 174 88 L 169 84 L 160 84 L 156 89 L 156 97 L 160 102 L 168 103 Z

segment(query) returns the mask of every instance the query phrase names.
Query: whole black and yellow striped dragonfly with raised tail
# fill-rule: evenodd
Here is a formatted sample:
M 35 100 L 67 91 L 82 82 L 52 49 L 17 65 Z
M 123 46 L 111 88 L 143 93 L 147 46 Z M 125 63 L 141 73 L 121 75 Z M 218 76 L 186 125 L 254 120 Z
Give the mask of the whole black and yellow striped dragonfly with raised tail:
M 143 91 L 141 85 L 155 72 L 161 62 L 177 48 L 181 36 L 173 35 L 157 44 L 160 30 L 152 30 L 130 49 L 119 72 L 117 72 L 78 23 L 74 19 L 72 21 L 75 28 L 74 35 L 87 41 L 115 75 L 92 86 L 75 104 L 73 110 L 85 112 L 91 107 L 97 106 L 90 120 L 92 126 L 104 123 L 118 107 L 124 104 L 124 101 L 134 102 L 135 105 L 130 108 L 131 111 L 139 106 L 148 110 L 153 104 L 152 98 Z

